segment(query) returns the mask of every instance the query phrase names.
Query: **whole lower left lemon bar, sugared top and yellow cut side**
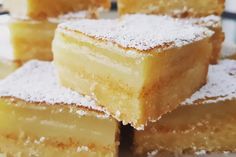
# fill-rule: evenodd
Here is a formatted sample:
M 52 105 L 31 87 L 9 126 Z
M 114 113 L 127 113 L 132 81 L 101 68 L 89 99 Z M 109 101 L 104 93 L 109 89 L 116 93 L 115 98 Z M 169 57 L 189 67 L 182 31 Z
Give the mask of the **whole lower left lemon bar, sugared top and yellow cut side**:
M 31 61 L 0 82 L 0 151 L 8 156 L 115 157 L 118 122 L 61 87 L 50 62 Z

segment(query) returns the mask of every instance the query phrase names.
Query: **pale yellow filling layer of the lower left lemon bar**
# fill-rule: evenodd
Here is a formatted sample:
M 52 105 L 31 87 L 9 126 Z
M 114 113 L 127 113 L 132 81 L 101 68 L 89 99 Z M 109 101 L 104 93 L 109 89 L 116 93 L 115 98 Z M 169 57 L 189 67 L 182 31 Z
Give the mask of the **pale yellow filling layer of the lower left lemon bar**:
M 118 124 L 103 113 L 79 110 L 76 106 L 48 106 L 1 99 L 0 135 L 2 138 L 12 137 L 22 144 L 27 139 L 43 138 L 42 144 L 46 147 L 76 150 L 86 146 L 93 152 L 113 153 L 115 156 Z

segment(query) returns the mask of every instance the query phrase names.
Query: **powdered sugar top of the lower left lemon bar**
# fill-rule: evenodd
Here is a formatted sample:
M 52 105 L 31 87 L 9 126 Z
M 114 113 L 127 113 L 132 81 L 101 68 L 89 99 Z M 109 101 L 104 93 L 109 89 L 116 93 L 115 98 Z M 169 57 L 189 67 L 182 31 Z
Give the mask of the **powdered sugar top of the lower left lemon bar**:
M 30 61 L 0 82 L 0 97 L 15 97 L 27 102 L 76 104 L 106 112 L 88 96 L 59 85 L 50 62 Z M 107 112 L 106 112 L 107 113 Z

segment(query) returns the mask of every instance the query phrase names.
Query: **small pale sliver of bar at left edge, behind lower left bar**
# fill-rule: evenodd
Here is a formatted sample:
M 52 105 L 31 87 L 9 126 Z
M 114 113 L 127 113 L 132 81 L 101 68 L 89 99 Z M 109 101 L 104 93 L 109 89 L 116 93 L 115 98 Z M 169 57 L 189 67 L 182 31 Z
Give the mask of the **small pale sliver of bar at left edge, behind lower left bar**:
M 19 66 L 17 62 L 0 58 L 0 80 L 14 72 Z

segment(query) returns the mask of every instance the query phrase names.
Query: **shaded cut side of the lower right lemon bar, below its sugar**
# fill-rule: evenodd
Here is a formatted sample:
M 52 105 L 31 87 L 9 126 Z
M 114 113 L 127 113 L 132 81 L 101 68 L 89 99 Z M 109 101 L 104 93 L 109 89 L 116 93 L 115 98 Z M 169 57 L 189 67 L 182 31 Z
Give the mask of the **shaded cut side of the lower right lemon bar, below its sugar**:
M 181 106 L 135 133 L 136 153 L 235 151 L 236 101 Z

